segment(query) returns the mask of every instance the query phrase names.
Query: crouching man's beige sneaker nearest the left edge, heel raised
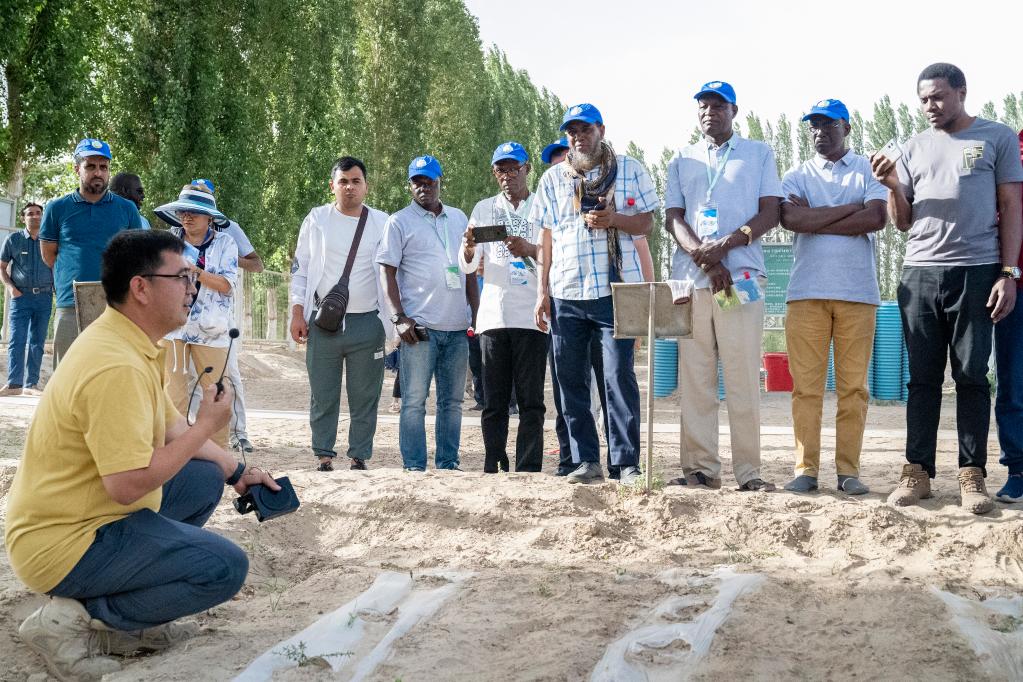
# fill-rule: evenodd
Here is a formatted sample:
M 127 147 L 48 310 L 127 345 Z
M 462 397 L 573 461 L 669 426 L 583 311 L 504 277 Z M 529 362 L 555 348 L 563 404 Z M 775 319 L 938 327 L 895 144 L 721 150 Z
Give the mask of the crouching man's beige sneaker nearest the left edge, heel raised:
M 52 597 L 25 620 L 17 634 L 58 680 L 99 680 L 120 671 L 121 664 L 98 655 L 89 620 L 80 601 Z

